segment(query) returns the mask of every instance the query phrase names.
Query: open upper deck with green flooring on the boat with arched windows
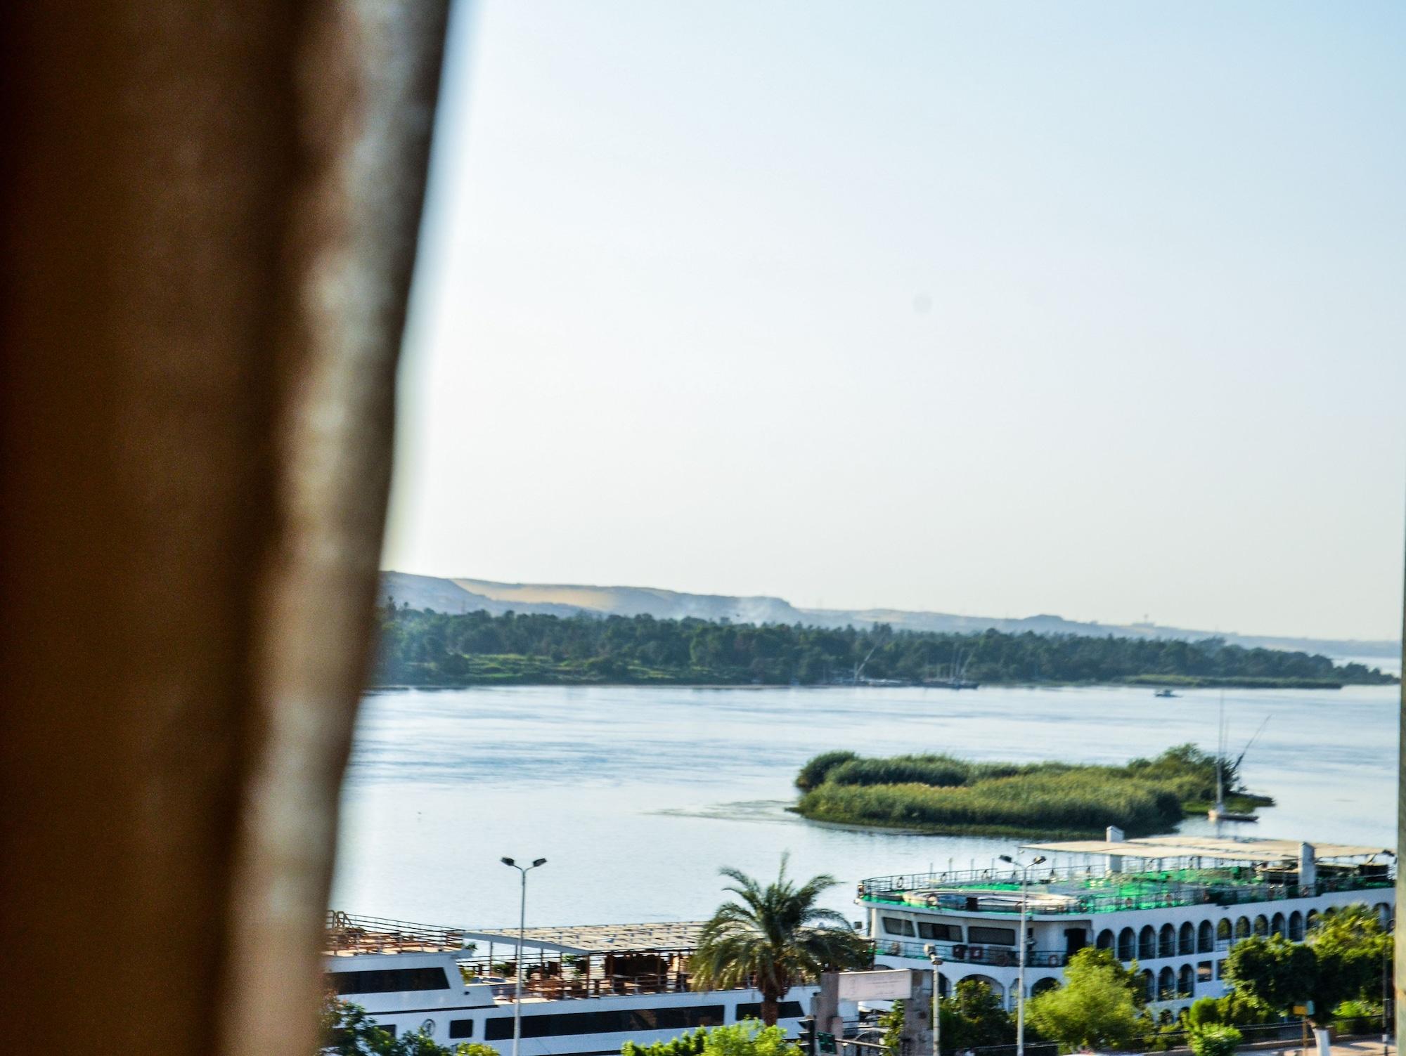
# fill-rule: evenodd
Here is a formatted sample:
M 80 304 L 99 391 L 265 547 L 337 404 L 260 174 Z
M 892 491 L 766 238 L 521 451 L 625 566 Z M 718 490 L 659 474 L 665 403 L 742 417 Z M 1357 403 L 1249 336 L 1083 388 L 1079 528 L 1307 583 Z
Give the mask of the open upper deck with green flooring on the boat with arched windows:
M 1040 864 L 1029 871 L 1024 900 L 1031 914 L 1115 913 L 1204 903 L 1234 906 L 1395 883 L 1393 851 L 1355 844 L 1152 837 L 1028 844 L 1022 850 L 1084 859 Z M 1102 861 L 1095 864 L 1094 857 Z M 1310 875 L 1303 882 L 1301 868 L 1306 862 L 1310 862 Z M 1021 873 L 1011 865 L 876 876 L 859 885 L 859 900 L 938 913 L 1012 914 L 1021 911 Z

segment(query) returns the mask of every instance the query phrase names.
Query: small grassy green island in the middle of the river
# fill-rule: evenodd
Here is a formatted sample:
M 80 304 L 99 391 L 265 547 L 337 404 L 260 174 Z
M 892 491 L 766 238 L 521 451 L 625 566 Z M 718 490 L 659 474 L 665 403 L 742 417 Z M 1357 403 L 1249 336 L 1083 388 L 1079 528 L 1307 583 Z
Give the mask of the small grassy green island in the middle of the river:
M 1234 810 L 1274 800 L 1240 788 L 1225 760 Z M 862 758 L 830 751 L 801 767 L 796 812 L 815 821 L 917 829 L 959 836 L 1128 836 L 1171 831 L 1215 800 L 1215 757 L 1194 744 L 1122 767 L 1070 763 L 970 763 L 950 755 Z

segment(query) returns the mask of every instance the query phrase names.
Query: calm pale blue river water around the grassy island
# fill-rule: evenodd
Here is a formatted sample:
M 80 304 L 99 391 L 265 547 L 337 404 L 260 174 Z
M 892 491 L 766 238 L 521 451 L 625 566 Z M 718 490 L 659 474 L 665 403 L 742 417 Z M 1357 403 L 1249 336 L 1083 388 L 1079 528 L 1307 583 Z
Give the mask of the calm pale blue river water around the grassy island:
M 333 904 L 467 925 L 517 917 L 517 873 L 546 857 L 529 924 L 692 920 L 717 869 L 845 882 L 990 864 L 1008 840 L 858 833 L 785 812 L 818 751 L 1122 763 L 1215 748 L 1219 691 L 641 689 L 520 687 L 367 697 L 343 793 Z M 1226 692 L 1233 750 L 1278 806 L 1246 834 L 1395 844 L 1396 687 Z M 1187 830 L 1206 831 L 1205 821 Z

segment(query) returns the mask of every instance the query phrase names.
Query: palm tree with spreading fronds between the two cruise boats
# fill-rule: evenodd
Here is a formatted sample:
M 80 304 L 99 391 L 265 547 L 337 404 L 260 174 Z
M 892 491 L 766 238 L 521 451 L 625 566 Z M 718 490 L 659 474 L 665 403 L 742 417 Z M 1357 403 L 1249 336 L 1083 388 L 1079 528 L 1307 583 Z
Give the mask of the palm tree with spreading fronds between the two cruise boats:
M 738 869 L 720 871 L 734 882 L 723 890 L 737 900 L 718 906 L 689 961 L 695 987 L 727 990 L 754 979 L 768 1027 L 776 1025 L 778 1005 L 792 984 L 873 961 L 869 944 L 842 914 L 815 904 L 838 880 L 823 873 L 797 887 L 786 878 L 786 858 L 776 882 L 765 887 Z

